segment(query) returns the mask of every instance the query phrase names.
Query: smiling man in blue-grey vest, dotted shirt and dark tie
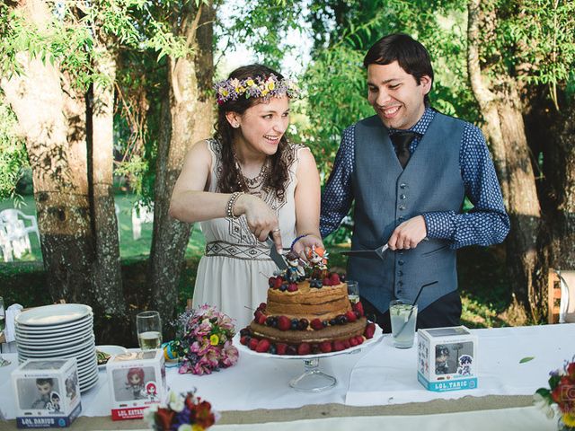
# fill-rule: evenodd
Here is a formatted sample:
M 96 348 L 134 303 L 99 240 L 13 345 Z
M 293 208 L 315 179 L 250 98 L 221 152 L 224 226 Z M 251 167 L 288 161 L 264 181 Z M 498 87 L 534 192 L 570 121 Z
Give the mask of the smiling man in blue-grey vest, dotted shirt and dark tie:
M 343 132 L 323 191 L 322 236 L 353 203 L 352 250 L 390 248 L 383 262 L 349 258 L 348 278 L 358 280 L 366 314 L 390 331 L 389 302 L 413 301 L 420 286 L 438 281 L 420 295 L 418 328 L 456 326 L 456 249 L 502 242 L 509 232 L 489 151 L 478 128 L 430 107 L 433 69 L 420 42 L 385 36 L 364 66 L 376 115 Z

